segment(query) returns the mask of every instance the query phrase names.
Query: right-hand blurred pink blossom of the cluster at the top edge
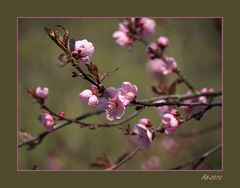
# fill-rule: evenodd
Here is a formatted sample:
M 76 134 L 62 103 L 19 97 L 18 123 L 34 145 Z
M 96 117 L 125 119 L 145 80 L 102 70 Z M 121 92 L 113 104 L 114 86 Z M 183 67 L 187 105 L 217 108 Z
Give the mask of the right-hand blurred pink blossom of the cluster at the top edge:
M 154 20 L 149 19 L 149 18 L 141 18 L 139 22 L 142 26 L 142 28 L 141 28 L 142 29 L 141 30 L 142 37 L 147 37 L 147 36 L 151 35 L 152 33 L 154 33 L 155 26 L 156 26 L 156 23 Z

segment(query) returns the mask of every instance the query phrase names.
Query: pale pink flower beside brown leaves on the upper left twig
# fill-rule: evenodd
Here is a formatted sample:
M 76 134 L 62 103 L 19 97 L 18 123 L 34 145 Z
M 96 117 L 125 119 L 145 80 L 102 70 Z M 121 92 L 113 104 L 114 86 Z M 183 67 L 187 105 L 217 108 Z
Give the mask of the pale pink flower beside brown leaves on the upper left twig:
M 91 42 L 88 42 L 86 39 L 75 42 L 72 54 L 76 59 L 80 59 L 84 64 L 90 63 L 93 53 L 94 46 Z

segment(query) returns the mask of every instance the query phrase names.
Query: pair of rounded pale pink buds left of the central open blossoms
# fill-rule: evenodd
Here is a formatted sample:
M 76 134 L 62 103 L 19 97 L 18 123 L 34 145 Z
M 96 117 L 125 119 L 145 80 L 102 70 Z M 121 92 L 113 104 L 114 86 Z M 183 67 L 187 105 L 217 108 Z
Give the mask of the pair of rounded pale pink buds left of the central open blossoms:
M 89 89 L 82 91 L 79 97 L 85 105 L 88 105 L 92 108 L 95 108 L 99 103 L 97 96 L 94 95 L 93 92 Z

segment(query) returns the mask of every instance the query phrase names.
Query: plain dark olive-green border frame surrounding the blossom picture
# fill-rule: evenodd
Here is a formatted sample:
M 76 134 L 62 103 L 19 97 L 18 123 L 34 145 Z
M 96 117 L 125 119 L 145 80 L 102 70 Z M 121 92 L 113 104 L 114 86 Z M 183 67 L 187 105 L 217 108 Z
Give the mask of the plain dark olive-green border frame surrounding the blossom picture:
M 199 186 L 239 184 L 238 152 L 238 5 L 220 1 L 165 2 L 4 2 L 1 12 L 2 135 L 1 184 L 43 186 Z M 105 10 L 104 10 L 105 9 Z M 16 17 L 17 16 L 220 16 L 224 17 L 224 171 L 221 181 L 201 181 L 206 172 L 16 172 Z M 231 80 L 234 79 L 234 80 Z M 232 87 L 232 88 L 230 88 Z M 2 185 L 3 187 L 3 185 Z

